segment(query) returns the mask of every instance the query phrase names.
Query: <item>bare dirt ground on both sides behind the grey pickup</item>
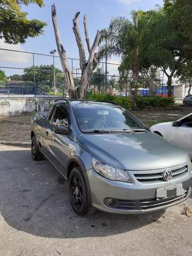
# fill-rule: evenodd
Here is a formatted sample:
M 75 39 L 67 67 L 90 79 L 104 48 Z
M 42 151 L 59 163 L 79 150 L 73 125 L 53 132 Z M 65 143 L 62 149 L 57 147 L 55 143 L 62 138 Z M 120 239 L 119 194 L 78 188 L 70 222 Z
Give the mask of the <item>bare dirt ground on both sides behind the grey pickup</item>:
M 173 109 L 139 110 L 132 113 L 141 122 L 148 120 L 179 119 L 192 113 L 191 106 L 177 105 Z M 33 113 L 9 117 L 0 116 L 0 143 L 1 142 L 30 142 L 30 122 Z

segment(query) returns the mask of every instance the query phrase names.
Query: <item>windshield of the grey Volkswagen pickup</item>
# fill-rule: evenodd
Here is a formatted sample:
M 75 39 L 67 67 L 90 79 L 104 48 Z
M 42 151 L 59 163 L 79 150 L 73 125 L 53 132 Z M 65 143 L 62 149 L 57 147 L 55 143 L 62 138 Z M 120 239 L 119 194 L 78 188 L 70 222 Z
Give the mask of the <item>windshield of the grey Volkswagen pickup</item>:
M 129 111 L 119 107 L 74 107 L 76 121 L 82 132 L 146 129 Z

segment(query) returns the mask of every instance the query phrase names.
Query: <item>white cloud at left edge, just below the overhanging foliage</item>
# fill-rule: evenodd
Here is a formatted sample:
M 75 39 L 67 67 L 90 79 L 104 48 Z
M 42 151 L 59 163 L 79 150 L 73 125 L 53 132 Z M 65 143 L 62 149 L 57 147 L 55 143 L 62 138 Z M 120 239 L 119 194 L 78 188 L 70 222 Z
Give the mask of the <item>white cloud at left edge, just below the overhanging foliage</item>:
M 3 50 L 2 50 L 3 49 Z M 5 51 L 4 51 L 5 50 Z M 11 50 L 11 51 L 6 51 Z M 24 52 L 19 44 L 6 44 L 0 39 L 0 51 L 1 51 L 1 62 L 17 62 L 17 63 L 28 63 L 31 58 L 29 53 Z

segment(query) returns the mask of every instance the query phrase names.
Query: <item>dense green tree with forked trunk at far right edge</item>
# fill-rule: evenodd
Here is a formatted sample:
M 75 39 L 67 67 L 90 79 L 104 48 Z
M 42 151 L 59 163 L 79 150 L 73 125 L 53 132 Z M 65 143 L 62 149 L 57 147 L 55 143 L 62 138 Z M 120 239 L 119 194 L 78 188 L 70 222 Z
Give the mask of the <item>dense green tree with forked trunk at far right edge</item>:
M 192 58 L 191 3 L 191 0 L 165 0 L 159 18 L 154 20 L 154 26 L 149 31 L 152 38 L 149 58 L 167 76 L 169 97 L 172 94 L 172 77 L 182 69 L 183 63 Z

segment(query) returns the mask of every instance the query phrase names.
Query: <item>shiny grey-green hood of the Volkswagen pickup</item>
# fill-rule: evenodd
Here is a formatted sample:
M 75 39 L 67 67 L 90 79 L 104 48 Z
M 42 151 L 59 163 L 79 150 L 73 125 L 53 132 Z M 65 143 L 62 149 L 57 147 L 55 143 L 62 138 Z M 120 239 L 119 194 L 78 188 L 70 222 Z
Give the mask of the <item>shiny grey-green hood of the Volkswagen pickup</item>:
M 78 143 L 103 163 L 126 170 L 154 170 L 188 161 L 181 148 L 151 132 L 82 134 Z

